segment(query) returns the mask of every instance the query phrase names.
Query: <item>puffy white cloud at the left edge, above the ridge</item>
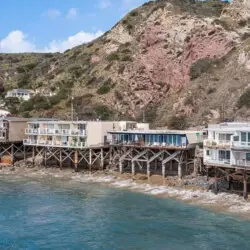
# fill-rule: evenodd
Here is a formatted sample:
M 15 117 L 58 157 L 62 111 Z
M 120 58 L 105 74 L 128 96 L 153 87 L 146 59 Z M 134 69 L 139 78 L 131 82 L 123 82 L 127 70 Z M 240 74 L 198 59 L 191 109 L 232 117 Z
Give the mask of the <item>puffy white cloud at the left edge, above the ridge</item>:
M 17 53 L 36 51 L 36 46 L 27 40 L 27 36 L 20 30 L 10 32 L 0 40 L 0 52 Z

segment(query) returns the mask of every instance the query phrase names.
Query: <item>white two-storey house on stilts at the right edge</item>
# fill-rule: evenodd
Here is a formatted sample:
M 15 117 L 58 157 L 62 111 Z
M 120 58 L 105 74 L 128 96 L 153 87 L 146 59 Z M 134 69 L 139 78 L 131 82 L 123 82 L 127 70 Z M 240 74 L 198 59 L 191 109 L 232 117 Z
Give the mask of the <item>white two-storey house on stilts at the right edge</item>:
M 204 164 L 250 168 L 250 123 L 221 123 L 208 126 L 204 140 Z

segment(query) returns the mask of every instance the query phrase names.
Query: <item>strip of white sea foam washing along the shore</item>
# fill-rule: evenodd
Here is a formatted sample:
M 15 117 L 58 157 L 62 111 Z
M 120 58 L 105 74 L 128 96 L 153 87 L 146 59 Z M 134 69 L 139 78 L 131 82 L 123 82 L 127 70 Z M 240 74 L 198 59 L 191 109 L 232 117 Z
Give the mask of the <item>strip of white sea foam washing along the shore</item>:
M 149 195 L 166 195 L 166 197 L 176 198 L 191 203 L 217 206 L 227 211 L 242 213 L 250 212 L 250 203 L 235 194 L 219 193 L 203 190 L 185 190 L 178 187 L 157 186 L 151 184 L 138 184 L 133 180 L 123 180 L 112 176 L 76 175 L 72 177 L 75 181 L 108 183 L 116 188 L 126 188 L 132 191 L 142 192 Z

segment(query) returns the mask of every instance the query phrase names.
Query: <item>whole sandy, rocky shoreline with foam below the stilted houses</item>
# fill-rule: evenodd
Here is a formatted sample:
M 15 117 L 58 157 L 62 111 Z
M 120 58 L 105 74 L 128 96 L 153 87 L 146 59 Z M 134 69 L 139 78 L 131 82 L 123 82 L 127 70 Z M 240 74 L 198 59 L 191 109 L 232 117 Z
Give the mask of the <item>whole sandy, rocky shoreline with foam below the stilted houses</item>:
M 161 176 L 152 176 L 148 181 L 143 174 L 137 174 L 132 177 L 131 174 L 120 174 L 112 170 L 75 172 L 74 169 L 65 168 L 29 168 L 18 163 L 18 167 L 2 166 L 0 175 L 26 177 L 38 181 L 47 180 L 48 178 L 57 179 L 64 182 L 78 183 L 99 183 L 109 187 L 125 189 L 131 192 L 139 192 L 147 195 L 157 196 L 159 198 L 169 198 L 182 201 L 186 204 L 199 206 L 201 208 L 220 212 L 225 215 L 234 215 L 242 219 L 250 220 L 250 202 L 245 201 L 243 197 L 236 194 L 219 193 L 214 194 L 207 191 L 202 186 L 206 184 L 203 177 L 183 179 L 179 181 L 176 177 L 166 178 L 165 185 Z M 191 180 L 191 181 L 190 181 Z M 188 182 L 193 185 L 184 185 Z M 197 183 L 201 183 L 197 185 Z M 207 183 L 208 184 L 208 183 Z

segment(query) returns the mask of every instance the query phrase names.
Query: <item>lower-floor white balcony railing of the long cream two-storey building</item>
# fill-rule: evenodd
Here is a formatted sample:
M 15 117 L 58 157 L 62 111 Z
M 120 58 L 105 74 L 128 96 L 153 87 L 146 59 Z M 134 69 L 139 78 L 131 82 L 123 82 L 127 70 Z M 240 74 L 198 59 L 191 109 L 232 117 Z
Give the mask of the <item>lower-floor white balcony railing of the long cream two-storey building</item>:
M 24 145 L 32 145 L 32 146 L 47 146 L 47 147 L 66 147 L 66 148 L 84 148 L 84 142 L 69 142 L 69 141 L 50 141 L 50 140 L 31 140 L 25 139 L 23 140 Z

